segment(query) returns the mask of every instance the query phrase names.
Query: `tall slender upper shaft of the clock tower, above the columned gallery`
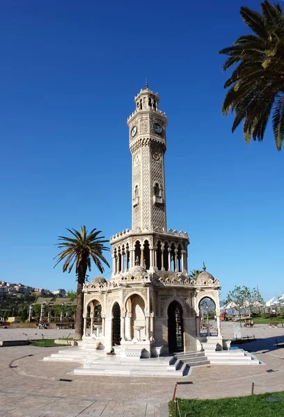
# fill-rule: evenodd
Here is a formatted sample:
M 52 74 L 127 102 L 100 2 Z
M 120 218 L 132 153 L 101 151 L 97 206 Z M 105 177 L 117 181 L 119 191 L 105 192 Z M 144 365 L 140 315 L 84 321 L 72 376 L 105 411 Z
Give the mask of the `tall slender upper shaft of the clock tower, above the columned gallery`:
M 159 111 L 159 95 L 146 83 L 134 98 L 128 117 L 132 153 L 132 231 L 166 232 L 166 113 Z

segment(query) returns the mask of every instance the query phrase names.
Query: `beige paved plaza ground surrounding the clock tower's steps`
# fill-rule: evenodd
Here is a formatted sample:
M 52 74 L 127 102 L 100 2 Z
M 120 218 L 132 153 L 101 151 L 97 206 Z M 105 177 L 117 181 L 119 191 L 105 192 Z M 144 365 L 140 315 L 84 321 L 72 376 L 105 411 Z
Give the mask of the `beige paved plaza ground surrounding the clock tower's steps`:
M 21 334 L 29 334 L 29 330 L 33 331 L 0 329 L 0 340 L 11 337 L 19 340 Z M 232 337 L 232 323 L 222 323 L 222 332 L 224 337 Z M 64 330 L 47 330 L 45 334 L 46 338 L 66 336 Z M 276 347 L 276 340 L 284 346 L 284 329 L 267 325 L 256 325 L 253 329 L 242 327 L 243 336 L 253 334 L 258 340 L 242 347 L 255 353 L 265 365 L 192 368 L 188 380 L 193 384 L 178 386 L 177 396 L 249 395 L 252 382 L 255 382 L 255 393 L 283 391 L 284 347 Z M 79 364 L 41 361 L 52 352 L 69 348 L 0 347 L 0 416 L 167 417 L 167 403 L 173 396 L 175 382 L 187 380 L 66 375 Z M 33 356 L 28 357 L 29 354 Z M 60 382 L 60 378 L 72 379 L 72 382 Z

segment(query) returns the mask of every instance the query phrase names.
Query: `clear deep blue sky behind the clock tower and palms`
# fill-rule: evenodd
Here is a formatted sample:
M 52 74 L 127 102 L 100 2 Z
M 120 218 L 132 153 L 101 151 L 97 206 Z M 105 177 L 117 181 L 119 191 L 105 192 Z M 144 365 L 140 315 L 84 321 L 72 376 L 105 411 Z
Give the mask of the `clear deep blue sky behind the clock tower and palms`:
M 260 8 L 1 2 L 0 279 L 75 288 L 73 272 L 53 269 L 65 227 L 106 238 L 131 228 L 126 120 L 148 77 L 168 115 L 168 227 L 188 231 L 189 268 L 205 261 L 221 299 L 235 285 L 258 285 L 266 299 L 284 291 L 284 151 L 270 128 L 265 142 L 246 145 L 221 115 L 218 52 L 247 33 L 244 4 Z

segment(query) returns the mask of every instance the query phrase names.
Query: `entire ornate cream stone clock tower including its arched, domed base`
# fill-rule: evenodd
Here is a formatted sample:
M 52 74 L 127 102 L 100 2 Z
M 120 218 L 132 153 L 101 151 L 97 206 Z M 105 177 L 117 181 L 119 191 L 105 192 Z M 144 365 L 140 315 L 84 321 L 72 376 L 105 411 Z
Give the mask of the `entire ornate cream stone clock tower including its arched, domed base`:
M 111 237 L 113 271 L 107 282 L 84 286 L 85 348 L 120 349 L 125 357 L 200 350 L 200 301 L 216 305 L 216 343 L 221 343 L 219 281 L 187 270 L 187 232 L 166 227 L 166 113 L 148 85 L 135 97 L 127 120 L 132 153 L 132 230 Z M 90 322 L 90 331 L 87 322 Z M 88 335 L 89 333 L 89 335 Z M 212 343 L 211 343 L 212 344 Z

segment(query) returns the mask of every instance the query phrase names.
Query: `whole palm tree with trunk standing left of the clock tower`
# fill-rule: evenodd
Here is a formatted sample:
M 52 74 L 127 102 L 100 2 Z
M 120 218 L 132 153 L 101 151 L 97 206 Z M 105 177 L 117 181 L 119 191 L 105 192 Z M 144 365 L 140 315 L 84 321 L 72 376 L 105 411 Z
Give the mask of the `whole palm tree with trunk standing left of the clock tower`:
M 75 325 L 75 340 L 80 340 L 83 336 L 83 309 L 84 309 L 84 295 L 82 293 L 83 284 L 86 279 L 87 269 L 90 271 L 91 259 L 97 265 L 100 272 L 104 272 L 102 262 L 109 266 L 109 263 L 102 252 L 109 250 L 109 247 L 105 247 L 103 244 L 108 242 L 104 239 L 104 236 L 98 236 L 102 233 L 100 230 L 93 229 L 88 233 L 86 226 L 81 227 L 81 231 L 75 229 L 67 229 L 74 237 L 59 236 L 60 243 L 56 243 L 63 251 L 59 252 L 54 259 L 57 258 L 57 262 L 54 265 L 58 265 L 59 262 L 65 260 L 63 264 L 63 272 L 71 272 L 73 265 L 76 264 L 76 274 L 78 276 L 77 284 L 77 311 L 76 311 L 76 325 Z

